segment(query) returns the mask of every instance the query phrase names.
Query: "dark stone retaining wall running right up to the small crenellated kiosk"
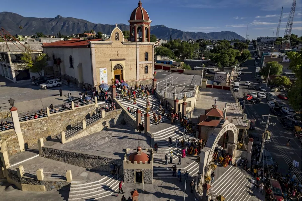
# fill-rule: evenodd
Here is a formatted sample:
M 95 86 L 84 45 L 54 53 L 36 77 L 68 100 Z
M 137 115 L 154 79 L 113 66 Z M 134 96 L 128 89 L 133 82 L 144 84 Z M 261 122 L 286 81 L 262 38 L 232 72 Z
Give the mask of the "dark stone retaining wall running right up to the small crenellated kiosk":
M 124 165 L 123 159 L 102 156 L 90 155 L 85 152 L 79 152 L 68 149 L 53 149 L 49 146 L 42 147 L 43 157 L 56 161 L 76 165 L 88 170 L 107 171 L 110 172 L 110 164 L 115 163 L 120 165 L 120 174 L 123 174 Z

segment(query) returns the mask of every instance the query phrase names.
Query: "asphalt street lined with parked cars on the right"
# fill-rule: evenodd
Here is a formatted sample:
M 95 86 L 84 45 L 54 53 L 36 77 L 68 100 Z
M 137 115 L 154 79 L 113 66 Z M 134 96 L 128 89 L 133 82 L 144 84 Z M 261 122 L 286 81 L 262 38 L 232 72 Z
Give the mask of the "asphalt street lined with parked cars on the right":
M 252 48 L 252 46 L 249 46 L 249 48 Z M 252 52 L 252 56 L 253 56 Z M 265 83 L 259 84 L 255 80 L 255 66 L 254 66 L 254 59 L 247 61 L 245 67 L 243 67 L 244 75 L 241 75 L 241 82 L 240 82 L 240 88 L 239 92 L 235 92 L 234 96 L 240 96 L 243 97 L 244 93 L 250 93 L 251 89 L 247 89 L 246 86 L 244 86 L 244 83 L 246 81 L 251 81 L 252 85 L 263 86 L 265 87 Z M 266 89 L 268 92 L 270 92 L 269 88 Z M 258 93 L 258 92 L 257 92 Z M 271 92 L 270 92 L 271 93 Z M 277 93 L 272 93 L 274 95 L 274 98 L 277 101 L 281 101 L 281 99 L 277 98 Z M 271 114 L 269 111 L 268 105 L 266 105 L 266 99 L 262 99 L 261 103 L 256 105 L 246 105 L 245 112 L 248 116 L 248 118 L 255 118 L 256 119 L 256 129 L 254 131 L 248 131 L 248 133 L 254 133 L 254 135 L 258 135 L 258 137 L 261 139 L 262 133 L 265 129 L 265 124 L 261 124 L 261 121 L 267 121 L 267 117 L 262 117 L 262 115 L 268 115 Z M 282 101 L 284 102 L 284 101 Z M 284 102 L 286 103 L 286 102 Z M 279 117 L 278 117 L 279 118 Z M 265 145 L 265 148 L 271 152 L 272 158 L 275 160 L 274 162 L 279 163 L 279 171 L 281 171 L 283 174 L 287 173 L 289 164 L 292 163 L 293 160 L 296 160 L 298 162 L 302 162 L 302 156 L 301 156 L 301 143 L 294 138 L 293 131 L 288 131 L 283 129 L 282 125 L 279 123 L 278 119 L 275 117 L 272 117 L 270 120 L 271 123 L 275 123 L 276 125 L 270 125 L 268 126 L 268 130 L 271 131 L 271 142 L 267 143 Z M 291 139 L 290 146 L 286 146 L 286 141 L 288 139 Z M 302 172 L 301 167 L 293 168 L 293 172 L 297 175 L 297 179 L 301 182 L 302 181 Z

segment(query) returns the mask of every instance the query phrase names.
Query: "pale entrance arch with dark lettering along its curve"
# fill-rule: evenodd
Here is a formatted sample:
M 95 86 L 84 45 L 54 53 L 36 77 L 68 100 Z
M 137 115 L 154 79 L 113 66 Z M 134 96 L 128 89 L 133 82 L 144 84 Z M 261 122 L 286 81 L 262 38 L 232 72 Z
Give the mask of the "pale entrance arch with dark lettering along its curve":
M 233 155 L 233 162 L 235 161 L 235 155 L 237 150 L 237 139 L 238 139 L 238 130 L 236 126 L 228 120 L 222 119 L 217 127 L 208 137 L 206 146 L 200 151 L 200 162 L 199 162 L 199 185 L 204 184 L 205 177 L 209 177 L 211 173 L 211 165 L 215 147 L 220 141 L 221 137 L 225 137 L 227 133 L 227 147 L 226 151 L 229 154 Z

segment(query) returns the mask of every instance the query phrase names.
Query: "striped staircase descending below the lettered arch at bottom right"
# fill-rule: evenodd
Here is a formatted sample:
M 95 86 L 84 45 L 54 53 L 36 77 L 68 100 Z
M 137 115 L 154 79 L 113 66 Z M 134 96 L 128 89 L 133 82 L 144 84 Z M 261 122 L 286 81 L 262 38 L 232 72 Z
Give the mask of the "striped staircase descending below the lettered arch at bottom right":
M 211 193 L 222 195 L 226 200 L 246 201 L 253 194 L 252 176 L 241 168 L 228 166 L 226 172 L 211 185 Z

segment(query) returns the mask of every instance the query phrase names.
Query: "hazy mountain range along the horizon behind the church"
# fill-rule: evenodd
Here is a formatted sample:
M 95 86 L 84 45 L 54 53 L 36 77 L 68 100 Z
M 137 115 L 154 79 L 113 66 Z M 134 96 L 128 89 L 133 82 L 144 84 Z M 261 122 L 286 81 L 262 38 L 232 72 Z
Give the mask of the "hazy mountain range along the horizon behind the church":
M 62 17 L 60 15 L 54 18 L 41 17 L 23 17 L 16 13 L 1 12 L 0 13 L 0 27 L 3 27 L 11 34 L 20 34 L 19 27 L 22 26 L 22 35 L 33 35 L 37 32 L 42 32 L 45 35 L 53 35 L 61 31 L 62 35 L 71 35 L 77 33 L 84 33 L 84 31 L 95 30 L 101 31 L 104 34 L 110 34 L 115 25 L 111 24 L 95 24 L 86 20 L 77 19 L 73 17 Z M 130 30 L 129 25 L 118 24 L 122 31 Z M 188 32 L 178 29 L 172 29 L 164 25 L 155 25 L 150 28 L 151 34 L 156 35 L 159 39 L 216 39 L 216 40 L 231 40 L 244 38 L 233 31 L 221 32 Z

